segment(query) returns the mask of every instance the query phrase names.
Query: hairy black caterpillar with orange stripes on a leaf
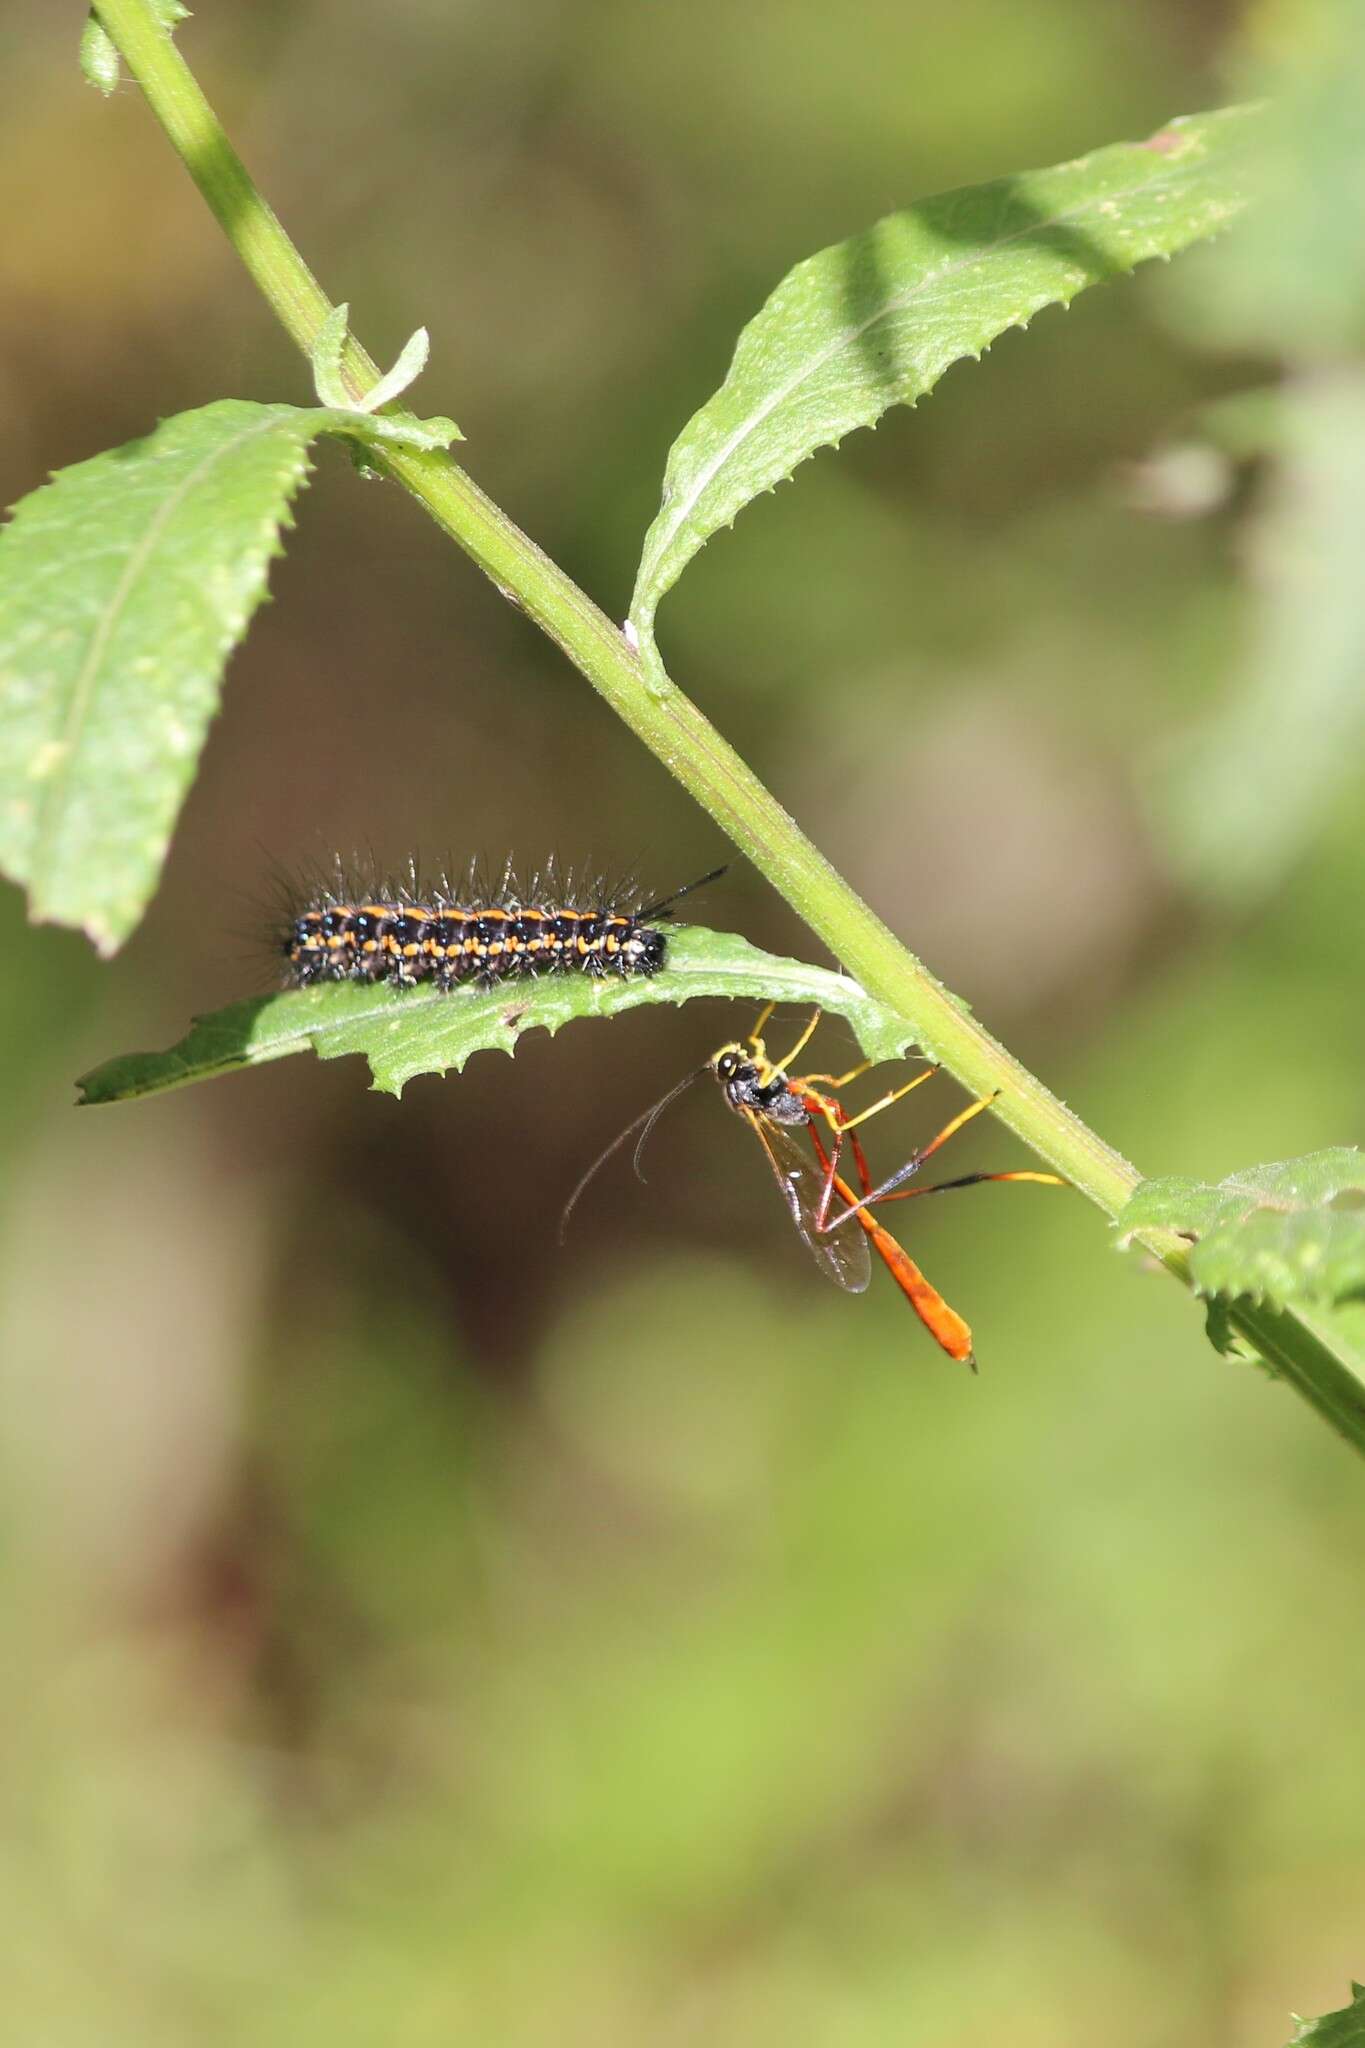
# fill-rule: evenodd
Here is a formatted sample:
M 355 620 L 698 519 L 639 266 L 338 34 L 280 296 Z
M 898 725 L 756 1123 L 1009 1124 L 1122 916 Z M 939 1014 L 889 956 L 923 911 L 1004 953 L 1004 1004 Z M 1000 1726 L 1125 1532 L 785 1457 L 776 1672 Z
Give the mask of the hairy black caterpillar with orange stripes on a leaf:
M 520 975 L 657 975 L 667 956 L 667 918 L 700 881 L 634 909 L 628 893 L 604 883 L 561 889 L 546 868 L 526 889 L 512 866 L 495 889 L 479 889 L 471 868 L 463 889 L 424 891 L 415 868 L 401 887 L 356 889 L 342 868 L 291 911 L 280 936 L 295 987 L 317 981 L 391 981 L 409 989 L 493 987 Z

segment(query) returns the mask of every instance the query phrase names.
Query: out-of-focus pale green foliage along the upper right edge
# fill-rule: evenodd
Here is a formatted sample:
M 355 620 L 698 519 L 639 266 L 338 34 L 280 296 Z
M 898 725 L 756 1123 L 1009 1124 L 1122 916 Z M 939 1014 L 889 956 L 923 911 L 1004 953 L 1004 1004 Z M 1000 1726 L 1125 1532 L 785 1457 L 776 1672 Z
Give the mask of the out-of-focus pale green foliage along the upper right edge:
M 1263 190 L 1177 303 L 1214 346 L 1269 348 L 1308 375 L 1283 381 L 1265 436 L 1277 465 L 1244 545 L 1240 676 L 1164 750 L 1152 788 L 1185 881 L 1232 903 L 1287 872 L 1365 741 L 1365 8 L 1322 6 L 1289 72 L 1250 82 L 1275 88 Z

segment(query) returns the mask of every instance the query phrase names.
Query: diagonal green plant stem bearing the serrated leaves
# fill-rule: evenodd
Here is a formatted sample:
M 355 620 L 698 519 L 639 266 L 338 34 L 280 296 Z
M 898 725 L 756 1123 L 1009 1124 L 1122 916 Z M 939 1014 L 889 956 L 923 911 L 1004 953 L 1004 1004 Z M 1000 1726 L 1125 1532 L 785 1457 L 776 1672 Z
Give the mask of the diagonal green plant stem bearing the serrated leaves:
M 332 311 L 321 285 L 256 190 L 217 115 L 147 0 L 96 0 L 147 104 L 287 332 L 311 356 Z M 342 377 L 364 397 L 379 369 L 348 340 Z M 645 745 L 677 776 L 835 958 L 907 1020 L 919 1042 L 1058 1174 L 1115 1217 L 1140 1174 L 1021 1067 L 874 915 L 800 831 L 698 707 L 639 651 L 448 455 L 389 451 L 385 471 L 426 506 L 493 584 L 569 655 Z M 1189 1284 L 1185 1251 L 1166 1233 L 1148 1249 Z M 1234 1311 L 1257 1350 L 1357 1448 L 1365 1450 L 1365 1389 L 1330 1346 L 1287 1313 Z

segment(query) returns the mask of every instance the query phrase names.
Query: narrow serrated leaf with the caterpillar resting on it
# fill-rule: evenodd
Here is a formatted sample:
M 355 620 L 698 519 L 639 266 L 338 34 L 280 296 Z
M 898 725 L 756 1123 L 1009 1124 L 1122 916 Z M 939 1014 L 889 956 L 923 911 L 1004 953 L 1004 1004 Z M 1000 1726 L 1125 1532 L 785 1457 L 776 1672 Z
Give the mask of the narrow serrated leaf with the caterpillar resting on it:
M 196 1018 L 166 1053 L 129 1053 L 78 1081 L 84 1102 L 127 1102 L 289 1053 L 321 1059 L 362 1053 L 375 1087 L 401 1094 L 420 1073 L 458 1073 L 475 1053 L 514 1053 L 522 1032 L 557 1032 L 573 1018 L 610 1018 L 645 1004 L 696 995 L 819 1006 L 847 1018 L 868 1059 L 905 1053 L 905 1018 L 874 1001 L 847 975 L 759 952 L 735 932 L 679 926 L 667 967 L 634 979 L 544 975 L 493 989 L 356 987 L 287 989 Z

